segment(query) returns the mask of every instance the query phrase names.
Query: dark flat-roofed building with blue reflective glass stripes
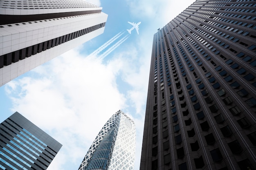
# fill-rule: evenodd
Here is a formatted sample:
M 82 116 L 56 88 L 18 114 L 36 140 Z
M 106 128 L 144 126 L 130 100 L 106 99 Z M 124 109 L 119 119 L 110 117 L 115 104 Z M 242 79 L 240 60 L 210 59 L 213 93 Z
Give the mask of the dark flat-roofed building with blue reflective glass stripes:
M 0 169 L 46 170 L 61 146 L 16 112 L 0 124 Z

